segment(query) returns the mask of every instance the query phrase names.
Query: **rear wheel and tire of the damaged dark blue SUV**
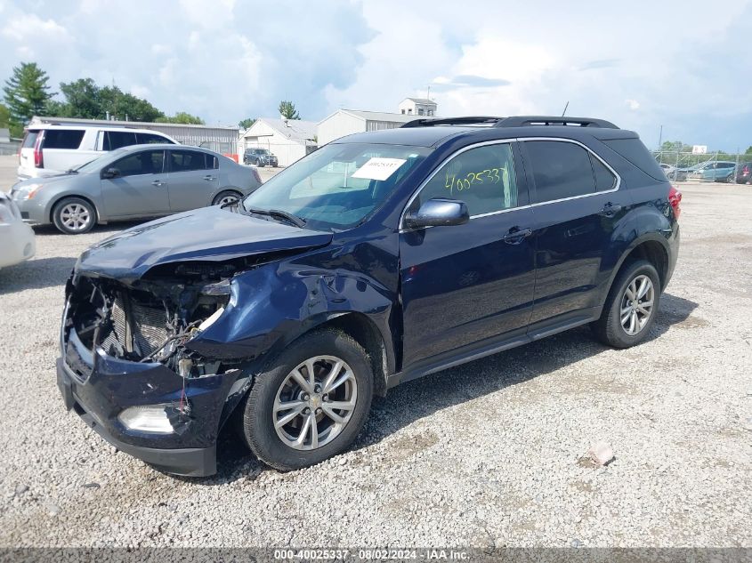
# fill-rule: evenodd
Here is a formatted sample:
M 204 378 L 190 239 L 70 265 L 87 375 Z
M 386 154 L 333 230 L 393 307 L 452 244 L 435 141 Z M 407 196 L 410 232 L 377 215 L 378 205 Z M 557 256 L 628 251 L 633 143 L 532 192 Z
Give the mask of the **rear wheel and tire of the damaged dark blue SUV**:
M 614 280 L 601 318 L 591 328 L 604 344 L 614 348 L 635 346 L 650 334 L 659 301 L 658 271 L 649 261 L 634 261 Z

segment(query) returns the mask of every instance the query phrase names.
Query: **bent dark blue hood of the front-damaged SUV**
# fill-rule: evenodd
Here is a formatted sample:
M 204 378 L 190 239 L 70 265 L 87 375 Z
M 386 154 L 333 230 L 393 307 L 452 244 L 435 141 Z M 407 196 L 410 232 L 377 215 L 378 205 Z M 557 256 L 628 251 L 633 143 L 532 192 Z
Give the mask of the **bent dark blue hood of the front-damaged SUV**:
M 177 261 L 222 261 L 254 254 L 327 245 L 332 234 L 298 229 L 219 206 L 150 221 L 91 246 L 76 264 L 78 274 L 125 283 L 152 266 Z

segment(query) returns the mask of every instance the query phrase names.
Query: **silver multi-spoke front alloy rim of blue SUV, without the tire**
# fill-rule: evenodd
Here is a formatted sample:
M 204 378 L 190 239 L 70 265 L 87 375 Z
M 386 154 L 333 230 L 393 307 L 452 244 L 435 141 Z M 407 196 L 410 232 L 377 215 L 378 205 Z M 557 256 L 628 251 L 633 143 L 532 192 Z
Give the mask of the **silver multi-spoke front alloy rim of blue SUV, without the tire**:
M 296 450 L 326 446 L 347 426 L 358 400 L 355 374 L 335 356 L 308 358 L 279 386 L 272 408 L 277 436 Z

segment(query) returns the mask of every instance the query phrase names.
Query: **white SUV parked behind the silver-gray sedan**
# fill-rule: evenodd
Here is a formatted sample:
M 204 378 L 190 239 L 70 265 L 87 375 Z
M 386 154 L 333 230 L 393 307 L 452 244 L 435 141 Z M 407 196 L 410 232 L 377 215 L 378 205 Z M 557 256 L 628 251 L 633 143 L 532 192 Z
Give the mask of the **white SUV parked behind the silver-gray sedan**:
M 107 125 L 28 125 L 19 151 L 19 180 L 65 173 L 110 150 L 151 143 L 178 144 L 165 133 Z

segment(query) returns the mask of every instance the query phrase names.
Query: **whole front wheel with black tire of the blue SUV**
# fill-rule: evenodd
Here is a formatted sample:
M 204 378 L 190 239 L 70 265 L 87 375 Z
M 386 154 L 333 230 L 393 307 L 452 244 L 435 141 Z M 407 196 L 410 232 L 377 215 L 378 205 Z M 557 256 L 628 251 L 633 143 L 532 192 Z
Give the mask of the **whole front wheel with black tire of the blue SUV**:
M 373 372 L 348 334 L 305 334 L 256 377 L 244 403 L 242 435 L 281 471 L 323 462 L 352 444 L 368 418 Z

